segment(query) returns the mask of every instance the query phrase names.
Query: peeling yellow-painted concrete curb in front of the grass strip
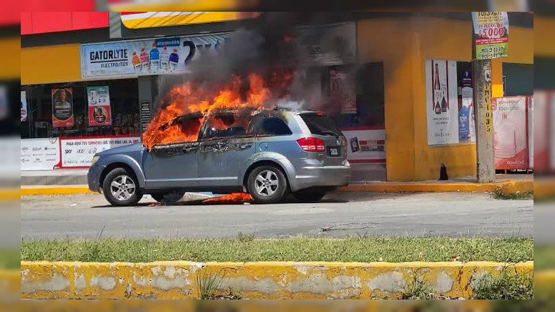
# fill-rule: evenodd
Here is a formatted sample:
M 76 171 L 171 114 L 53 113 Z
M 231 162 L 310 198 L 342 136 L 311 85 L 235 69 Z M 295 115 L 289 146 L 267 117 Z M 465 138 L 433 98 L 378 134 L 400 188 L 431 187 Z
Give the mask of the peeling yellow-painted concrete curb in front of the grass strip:
M 196 299 L 199 283 L 249 299 L 397 298 L 414 279 L 438 295 L 465 297 L 488 275 L 533 274 L 533 261 L 81 263 L 22 261 L 22 299 Z

